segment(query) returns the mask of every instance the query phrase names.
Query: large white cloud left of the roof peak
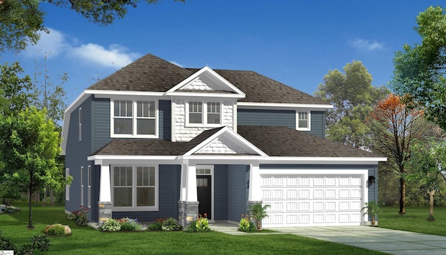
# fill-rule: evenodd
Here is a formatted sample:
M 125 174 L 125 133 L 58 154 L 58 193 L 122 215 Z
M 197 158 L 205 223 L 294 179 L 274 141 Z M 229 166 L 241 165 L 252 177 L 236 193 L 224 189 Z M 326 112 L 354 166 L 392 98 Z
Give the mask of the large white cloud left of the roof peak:
M 94 63 L 107 68 L 122 68 L 137 59 L 140 54 L 130 52 L 127 47 L 112 44 L 108 48 L 95 43 L 80 44 L 76 38 L 68 38 L 56 29 L 42 33 L 36 45 L 30 45 L 24 55 L 31 58 L 54 56 L 75 57 L 81 61 Z

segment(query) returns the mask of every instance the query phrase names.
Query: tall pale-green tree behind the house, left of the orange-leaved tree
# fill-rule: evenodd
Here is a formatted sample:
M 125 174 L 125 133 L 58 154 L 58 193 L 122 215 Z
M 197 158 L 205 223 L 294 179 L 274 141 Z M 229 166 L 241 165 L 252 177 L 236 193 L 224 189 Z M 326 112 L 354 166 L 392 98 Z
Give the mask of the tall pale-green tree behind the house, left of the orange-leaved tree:
M 333 105 L 327 115 L 327 138 L 355 148 L 369 147 L 370 129 L 364 119 L 388 91 L 371 85 L 371 75 L 360 61 L 347 63 L 344 72 L 329 70 L 314 93 Z

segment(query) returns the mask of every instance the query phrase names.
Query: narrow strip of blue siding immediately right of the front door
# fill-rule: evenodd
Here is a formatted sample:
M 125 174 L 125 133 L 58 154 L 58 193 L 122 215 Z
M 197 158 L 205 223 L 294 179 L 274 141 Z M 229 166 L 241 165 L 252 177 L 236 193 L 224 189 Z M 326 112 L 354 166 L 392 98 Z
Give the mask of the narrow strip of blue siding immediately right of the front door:
M 214 217 L 215 220 L 228 219 L 228 166 L 214 166 Z

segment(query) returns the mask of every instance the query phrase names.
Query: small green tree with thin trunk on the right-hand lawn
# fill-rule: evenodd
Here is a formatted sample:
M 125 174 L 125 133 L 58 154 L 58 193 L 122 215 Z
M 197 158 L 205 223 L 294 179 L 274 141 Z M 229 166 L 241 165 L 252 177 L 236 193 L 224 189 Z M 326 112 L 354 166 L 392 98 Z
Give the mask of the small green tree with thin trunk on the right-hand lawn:
M 426 186 L 429 194 L 429 221 L 433 217 L 433 195 L 436 191 L 445 189 L 446 167 L 446 141 L 417 141 L 411 145 L 408 167 L 413 173 L 408 175 L 408 180 L 419 182 Z

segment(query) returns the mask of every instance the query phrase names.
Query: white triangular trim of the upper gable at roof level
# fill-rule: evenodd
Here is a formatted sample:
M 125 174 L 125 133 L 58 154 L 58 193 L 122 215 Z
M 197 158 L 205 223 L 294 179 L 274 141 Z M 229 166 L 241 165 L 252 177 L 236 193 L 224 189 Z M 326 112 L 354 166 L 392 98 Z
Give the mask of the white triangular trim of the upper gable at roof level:
M 231 89 L 231 91 L 235 92 L 236 95 L 231 95 L 230 97 L 234 97 L 234 98 L 245 98 L 245 93 L 243 93 L 243 91 L 240 91 L 240 89 L 238 89 L 236 86 L 234 86 L 233 84 L 231 84 L 231 82 L 228 82 L 228 80 L 224 79 L 224 77 L 222 77 L 221 75 L 219 75 L 217 72 L 215 72 L 214 70 L 212 70 L 210 67 L 208 67 L 207 65 L 203 68 L 201 68 L 200 70 L 198 70 L 197 72 L 195 72 L 193 75 L 190 75 L 190 77 L 187 77 L 185 80 L 183 80 L 183 82 L 180 82 L 179 84 L 177 84 L 176 86 L 174 86 L 173 88 L 169 89 L 166 92 L 166 95 L 192 95 L 192 94 L 197 94 L 194 96 L 202 96 L 201 94 L 203 93 L 185 93 L 185 92 L 177 92 L 180 88 L 183 88 L 184 86 L 187 86 L 188 84 L 190 84 L 191 82 L 194 82 L 200 75 L 208 73 L 210 75 L 210 77 L 217 79 L 217 82 L 222 82 L 224 85 L 226 85 L 228 88 Z M 205 74 L 206 75 L 206 74 Z M 207 94 L 207 93 L 204 93 Z M 212 93 L 215 94 L 215 93 Z M 226 95 L 228 96 L 227 93 L 225 94 L 217 94 L 217 96 L 219 95 Z

